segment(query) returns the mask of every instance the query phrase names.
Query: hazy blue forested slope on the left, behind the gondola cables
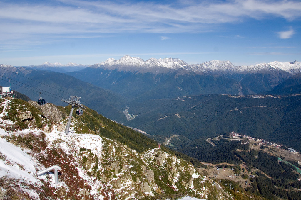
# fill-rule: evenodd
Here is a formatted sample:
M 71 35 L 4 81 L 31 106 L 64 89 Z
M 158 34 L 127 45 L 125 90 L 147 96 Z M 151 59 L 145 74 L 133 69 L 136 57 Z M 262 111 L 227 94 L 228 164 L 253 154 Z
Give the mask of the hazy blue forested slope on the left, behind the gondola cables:
M 119 122 L 126 120 L 121 110 L 125 107 L 123 97 L 85 82 L 89 79 L 81 81 L 64 73 L 10 65 L 0 65 L 0 76 L 2 85 L 9 84 L 8 77 L 11 77 L 12 89 L 26 94 L 31 100 L 37 101 L 39 92 L 42 92 L 46 102 L 66 106 L 61 99 L 75 95 L 81 97 L 83 104 L 110 119 Z

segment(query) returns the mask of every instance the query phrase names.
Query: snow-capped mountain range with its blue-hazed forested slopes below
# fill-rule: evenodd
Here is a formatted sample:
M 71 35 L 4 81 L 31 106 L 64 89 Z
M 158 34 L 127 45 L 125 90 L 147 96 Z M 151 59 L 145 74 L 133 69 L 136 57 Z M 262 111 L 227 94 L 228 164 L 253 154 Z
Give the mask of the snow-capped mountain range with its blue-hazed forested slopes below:
M 141 102 L 185 95 L 266 92 L 300 72 L 297 61 L 235 66 L 230 61 L 188 64 L 180 59 L 144 61 L 124 56 L 68 74 Z

